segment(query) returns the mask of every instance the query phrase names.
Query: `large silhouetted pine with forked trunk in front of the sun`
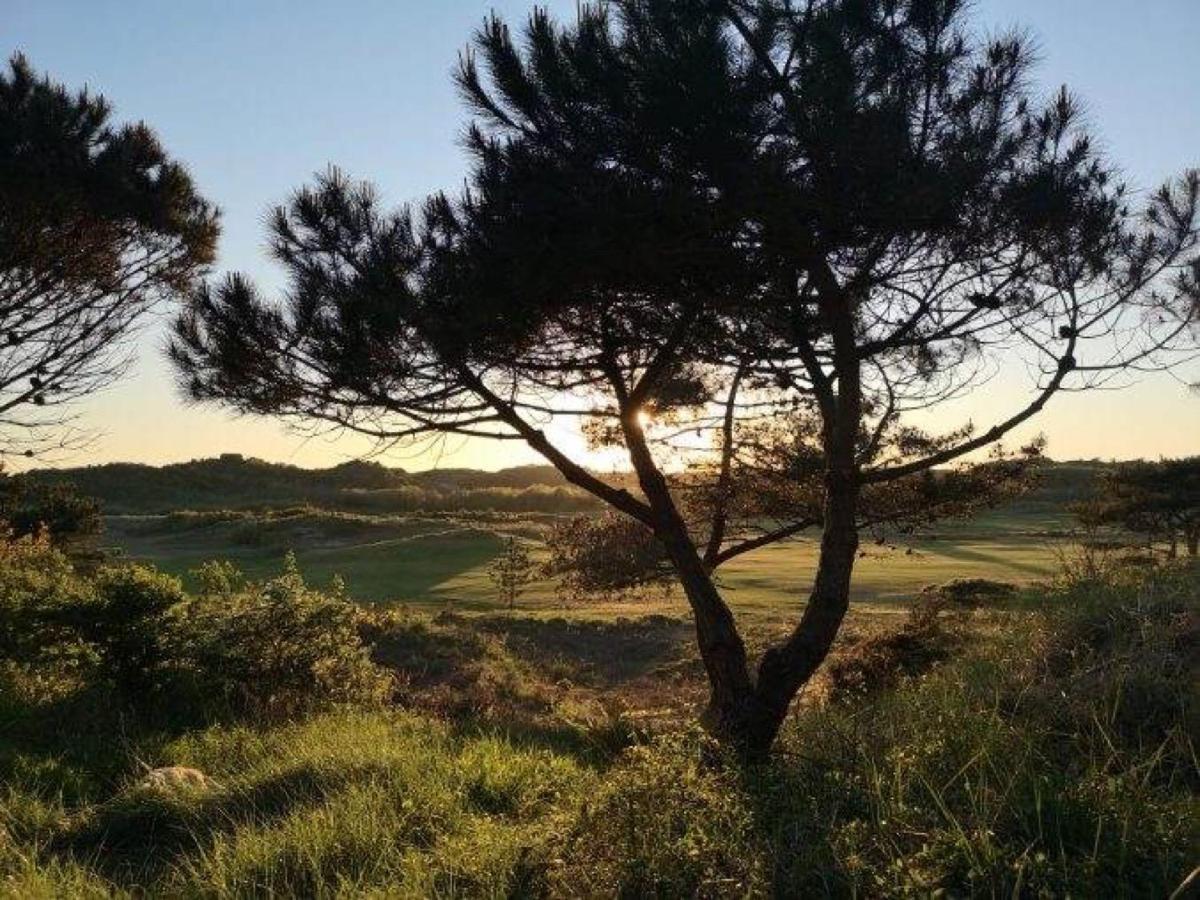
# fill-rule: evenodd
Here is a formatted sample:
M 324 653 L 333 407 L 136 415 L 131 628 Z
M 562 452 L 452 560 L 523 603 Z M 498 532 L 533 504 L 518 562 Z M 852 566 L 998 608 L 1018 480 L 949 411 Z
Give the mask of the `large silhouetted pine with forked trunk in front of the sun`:
M 841 625 L 866 497 L 919 499 L 1058 391 L 1169 364 L 1192 325 L 1200 176 L 1132 212 L 1075 100 L 1032 100 L 1026 42 L 968 25 L 953 0 L 614 0 L 535 12 L 521 42 L 490 19 L 458 73 L 464 192 L 418 215 L 336 172 L 300 191 L 271 222 L 283 302 L 238 276 L 200 290 L 181 382 L 383 442 L 527 443 L 654 533 L 706 721 L 763 752 Z M 994 424 L 912 424 L 1019 361 L 1030 395 Z M 623 448 L 636 486 L 556 444 L 563 419 Z M 780 448 L 791 521 L 731 528 Z M 812 526 L 808 602 L 755 674 L 714 569 Z

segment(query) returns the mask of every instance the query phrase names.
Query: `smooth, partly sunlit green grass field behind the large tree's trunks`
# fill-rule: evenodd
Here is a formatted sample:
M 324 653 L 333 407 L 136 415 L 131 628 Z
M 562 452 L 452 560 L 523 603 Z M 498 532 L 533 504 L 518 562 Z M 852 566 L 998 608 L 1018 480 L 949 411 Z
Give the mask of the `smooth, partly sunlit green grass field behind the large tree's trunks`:
M 131 559 L 152 562 L 187 577 L 209 559 L 229 559 L 251 577 L 278 571 L 288 551 L 316 584 L 341 576 L 352 598 L 437 611 L 497 608 L 487 564 L 506 535 L 536 540 L 548 516 L 444 515 L 365 516 L 295 510 L 277 514 L 114 516 L 106 544 Z M 1028 583 L 1056 565 L 1064 517 L 1043 509 L 1015 509 L 970 522 L 947 522 L 935 534 L 905 542 L 864 539 L 853 599 L 894 608 L 922 587 L 980 577 Z M 816 562 L 815 536 L 766 547 L 731 562 L 720 572 L 734 608 L 774 618 L 794 610 Z M 554 586 L 533 584 L 526 612 L 562 612 Z M 678 596 L 576 607 L 580 616 L 683 613 Z

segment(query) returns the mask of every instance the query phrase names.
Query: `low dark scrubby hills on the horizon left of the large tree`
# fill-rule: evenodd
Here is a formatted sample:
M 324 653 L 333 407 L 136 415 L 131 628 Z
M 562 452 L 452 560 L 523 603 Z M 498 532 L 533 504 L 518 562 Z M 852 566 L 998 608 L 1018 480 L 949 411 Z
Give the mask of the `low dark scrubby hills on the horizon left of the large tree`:
M 416 509 L 558 511 L 594 508 L 595 500 L 551 466 L 499 472 L 406 472 L 352 461 L 328 469 L 265 462 L 240 454 L 170 466 L 108 463 L 73 469 L 35 469 L 20 475 L 42 484 L 71 482 L 100 499 L 110 515 L 175 510 L 262 509 L 310 504 L 356 512 Z

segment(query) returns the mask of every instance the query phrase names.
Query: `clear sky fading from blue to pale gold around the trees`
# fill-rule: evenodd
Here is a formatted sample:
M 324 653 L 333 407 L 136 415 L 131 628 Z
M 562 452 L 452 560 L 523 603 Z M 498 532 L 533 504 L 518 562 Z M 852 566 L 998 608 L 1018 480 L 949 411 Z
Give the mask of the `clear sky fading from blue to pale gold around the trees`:
M 576 0 L 541 4 L 563 17 Z M 456 188 L 466 173 L 466 112 L 450 80 L 458 52 L 492 10 L 510 23 L 529 0 L 0 0 L 0 52 L 145 120 L 221 206 L 218 271 L 264 287 L 280 272 L 263 250 L 266 210 L 335 163 L 373 181 L 389 203 Z M 1150 190 L 1200 166 L 1200 0 L 977 0 L 988 32 L 1019 26 L 1037 41 L 1039 88 L 1068 84 L 1086 102 L 1132 186 Z M 312 437 L 276 421 L 185 406 L 163 359 L 169 311 L 142 334 L 130 376 L 80 408 L 86 451 L 56 460 L 179 462 L 241 452 L 298 466 L 368 454 L 360 438 Z M 947 410 L 944 426 L 980 426 L 1015 409 L 1025 373 Z M 935 425 L 941 420 L 935 420 Z M 1055 398 L 1015 439 L 1044 432 L 1056 458 L 1200 454 L 1200 397 L 1148 376 L 1120 391 Z M 552 434 L 553 436 L 553 434 Z M 578 448 L 577 437 L 557 436 Z M 455 439 L 394 450 L 408 469 L 502 468 L 536 461 L 515 446 Z

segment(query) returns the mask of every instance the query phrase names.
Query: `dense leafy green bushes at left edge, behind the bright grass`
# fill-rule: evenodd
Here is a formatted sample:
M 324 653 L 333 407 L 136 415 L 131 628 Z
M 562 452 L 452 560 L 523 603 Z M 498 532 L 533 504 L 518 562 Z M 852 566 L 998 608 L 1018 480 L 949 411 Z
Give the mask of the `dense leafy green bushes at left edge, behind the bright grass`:
M 192 598 L 146 566 L 85 577 L 46 538 L 0 542 L 0 650 L 25 680 L 113 691 L 143 715 L 262 718 L 389 696 L 355 607 L 310 589 L 294 560 L 262 584 L 228 565 L 205 572 Z

